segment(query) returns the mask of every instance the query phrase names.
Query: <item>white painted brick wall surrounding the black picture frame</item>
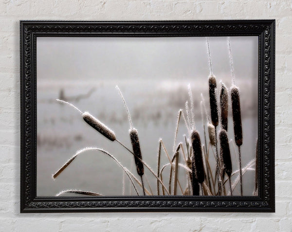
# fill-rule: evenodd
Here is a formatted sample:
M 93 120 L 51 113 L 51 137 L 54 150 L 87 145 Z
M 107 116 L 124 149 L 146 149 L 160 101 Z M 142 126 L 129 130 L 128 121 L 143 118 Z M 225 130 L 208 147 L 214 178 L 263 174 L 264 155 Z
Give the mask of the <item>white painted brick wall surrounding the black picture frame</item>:
M 0 231 L 292 231 L 291 0 L 1 0 Z M 19 20 L 276 19 L 276 213 L 19 214 Z

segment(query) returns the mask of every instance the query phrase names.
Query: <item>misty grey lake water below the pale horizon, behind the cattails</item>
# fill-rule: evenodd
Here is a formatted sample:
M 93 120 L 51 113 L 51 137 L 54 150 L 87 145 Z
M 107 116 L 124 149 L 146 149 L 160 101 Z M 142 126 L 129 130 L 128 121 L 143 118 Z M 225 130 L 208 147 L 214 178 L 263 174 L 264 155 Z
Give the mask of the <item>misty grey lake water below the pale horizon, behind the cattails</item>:
M 167 151 L 172 154 L 173 141 L 178 111 L 184 109 L 188 100 L 187 85 L 191 84 L 196 129 L 203 141 L 203 126 L 201 120 L 201 93 L 205 105 L 209 108 L 207 80 L 202 85 L 201 80 L 110 80 L 110 81 L 54 81 L 38 82 L 37 86 L 37 196 L 55 196 L 62 190 L 78 189 L 98 192 L 106 196 L 135 195 L 123 170 L 110 157 L 100 152 L 87 151 L 79 155 L 55 180 L 55 173 L 77 150 L 84 147 L 99 147 L 112 154 L 137 178 L 132 155 L 117 142 L 111 142 L 87 125 L 80 113 L 72 107 L 55 101 L 63 95 L 81 111 L 89 111 L 116 134 L 119 141 L 131 147 L 129 141 L 129 123 L 123 102 L 115 89 L 119 85 L 128 104 L 134 127 L 138 130 L 143 160 L 157 170 L 157 153 L 159 139 L 164 141 Z M 230 87 L 230 82 L 225 82 Z M 248 81 L 237 82 L 241 88 L 241 108 L 243 144 L 241 146 L 242 167 L 256 157 L 257 138 L 257 102 Z M 219 84 L 218 84 L 219 85 Z M 79 97 L 91 92 L 88 96 Z M 77 96 L 77 97 L 76 97 Z M 185 112 L 185 110 L 184 110 Z M 209 113 L 209 111 L 208 111 Z M 219 127 L 218 127 L 219 128 Z M 183 142 L 183 135 L 188 135 L 183 120 L 180 123 L 177 143 Z M 229 139 L 234 139 L 231 106 L 229 106 Z M 208 143 L 208 139 L 207 139 Z M 231 145 L 233 171 L 237 170 L 237 146 Z M 180 154 L 181 155 L 181 154 Z M 161 166 L 168 162 L 164 152 L 161 156 Z M 215 170 L 213 153 L 209 156 L 211 167 Z M 182 155 L 180 162 L 184 163 Z M 253 166 L 255 167 L 255 166 Z M 156 194 L 156 179 L 145 169 L 146 188 L 148 183 Z M 168 183 L 169 168 L 165 168 L 164 181 Z M 237 177 L 235 175 L 232 180 Z M 186 186 L 185 171 L 180 168 L 179 178 L 183 187 Z M 147 183 L 148 182 L 148 183 Z M 138 186 L 138 185 L 137 185 Z M 229 189 L 228 184 L 226 185 Z M 249 170 L 243 176 L 243 193 L 250 196 L 255 186 L 255 171 Z M 238 188 L 234 195 L 239 195 Z M 142 191 L 139 188 L 140 194 Z M 178 191 L 178 194 L 182 193 Z

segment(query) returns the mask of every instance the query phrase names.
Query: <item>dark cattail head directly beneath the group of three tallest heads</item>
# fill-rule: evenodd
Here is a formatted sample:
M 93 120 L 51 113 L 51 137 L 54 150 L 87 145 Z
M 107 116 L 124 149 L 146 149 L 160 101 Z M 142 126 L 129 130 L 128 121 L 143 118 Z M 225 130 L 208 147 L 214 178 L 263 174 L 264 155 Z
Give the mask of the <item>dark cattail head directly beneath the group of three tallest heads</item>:
M 226 130 L 222 129 L 219 132 L 220 141 L 220 155 L 223 161 L 224 170 L 228 177 L 231 177 L 232 173 L 232 162 L 228 143 L 228 136 Z

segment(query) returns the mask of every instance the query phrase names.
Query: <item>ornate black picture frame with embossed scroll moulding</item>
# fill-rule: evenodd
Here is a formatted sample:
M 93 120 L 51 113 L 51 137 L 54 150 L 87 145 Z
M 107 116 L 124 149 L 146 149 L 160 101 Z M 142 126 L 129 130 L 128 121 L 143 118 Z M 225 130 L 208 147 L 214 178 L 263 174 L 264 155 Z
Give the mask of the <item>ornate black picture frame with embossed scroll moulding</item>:
M 37 197 L 37 36 L 258 36 L 258 196 Z M 275 20 L 20 21 L 20 213 L 274 212 Z

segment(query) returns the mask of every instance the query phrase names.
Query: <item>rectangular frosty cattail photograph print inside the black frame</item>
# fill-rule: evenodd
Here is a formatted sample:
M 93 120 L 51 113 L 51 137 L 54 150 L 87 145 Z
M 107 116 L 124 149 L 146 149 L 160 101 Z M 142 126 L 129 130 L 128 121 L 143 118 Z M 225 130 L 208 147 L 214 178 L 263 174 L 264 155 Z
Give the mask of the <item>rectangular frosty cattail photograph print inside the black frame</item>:
M 37 37 L 37 196 L 258 196 L 258 37 Z

